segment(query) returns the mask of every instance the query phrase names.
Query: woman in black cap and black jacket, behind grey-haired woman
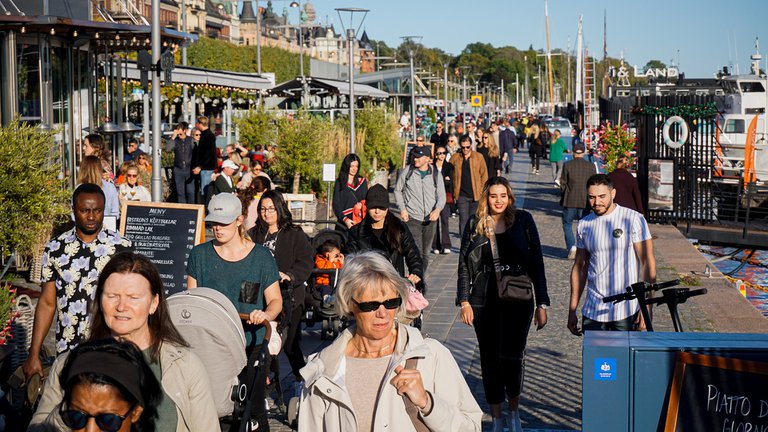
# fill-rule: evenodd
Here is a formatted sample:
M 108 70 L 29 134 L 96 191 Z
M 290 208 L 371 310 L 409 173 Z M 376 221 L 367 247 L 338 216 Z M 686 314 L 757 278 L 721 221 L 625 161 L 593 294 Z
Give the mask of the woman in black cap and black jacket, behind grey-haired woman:
M 374 185 L 365 196 L 368 214 L 363 221 L 349 230 L 347 252 L 378 250 L 384 253 L 400 276 L 405 277 L 423 291 L 424 265 L 411 231 L 389 211 L 389 193 L 382 185 Z

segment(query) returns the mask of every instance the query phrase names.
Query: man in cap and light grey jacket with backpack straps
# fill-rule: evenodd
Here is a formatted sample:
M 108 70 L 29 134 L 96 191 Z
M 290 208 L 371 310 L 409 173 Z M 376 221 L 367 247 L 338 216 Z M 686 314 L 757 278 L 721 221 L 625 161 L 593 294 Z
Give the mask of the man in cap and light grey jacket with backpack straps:
M 414 147 L 410 154 L 411 163 L 400 172 L 395 185 L 395 202 L 400 209 L 400 217 L 419 246 L 425 273 L 437 219 L 445 206 L 445 186 L 429 163 L 431 156 L 429 147 Z

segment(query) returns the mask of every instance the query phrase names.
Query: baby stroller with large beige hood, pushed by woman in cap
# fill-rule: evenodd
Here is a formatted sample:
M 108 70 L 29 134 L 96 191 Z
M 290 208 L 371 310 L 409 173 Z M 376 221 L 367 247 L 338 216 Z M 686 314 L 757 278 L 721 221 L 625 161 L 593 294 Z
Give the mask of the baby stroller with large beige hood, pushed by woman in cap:
M 245 332 L 237 312 L 222 293 L 195 288 L 168 297 L 171 320 L 191 345 L 208 372 L 211 393 L 223 431 L 250 432 L 258 428 L 251 420 L 258 382 L 266 373 L 271 326 L 261 346 L 246 356 Z M 263 385 L 263 384 L 262 384 Z

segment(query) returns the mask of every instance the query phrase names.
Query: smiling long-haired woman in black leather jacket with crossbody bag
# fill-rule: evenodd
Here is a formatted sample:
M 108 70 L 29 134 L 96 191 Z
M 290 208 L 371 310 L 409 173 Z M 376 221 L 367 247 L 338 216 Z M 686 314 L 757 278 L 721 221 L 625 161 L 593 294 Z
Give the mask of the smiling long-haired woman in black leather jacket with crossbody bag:
M 534 299 L 501 301 L 498 296 L 488 230 L 495 232 L 502 266 L 526 269 L 533 282 Z M 470 219 L 461 240 L 457 305 L 461 320 L 474 325 L 480 348 L 485 397 L 491 408 L 493 431 L 502 431 L 501 404 L 509 405 L 509 431 L 522 431 L 518 405 L 523 384 L 523 360 L 528 329 L 547 323 L 547 280 L 536 223 L 530 213 L 515 209 L 507 179 L 491 177 L 483 187 L 477 214 Z

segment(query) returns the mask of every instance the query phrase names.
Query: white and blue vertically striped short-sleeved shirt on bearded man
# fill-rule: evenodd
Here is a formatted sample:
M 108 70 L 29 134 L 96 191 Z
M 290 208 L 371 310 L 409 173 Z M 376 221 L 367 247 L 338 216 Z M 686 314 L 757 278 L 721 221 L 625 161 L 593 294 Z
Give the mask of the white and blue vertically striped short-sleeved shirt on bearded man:
M 587 295 L 582 314 L 600 322 L 619 321 L 635 312 L 637 300 L 603 303 L 603 297 L 626 292 L 641 280 L 641 263 L 634 244 L 650 240 L 651 231 L 640 213 L 616 205 L 609 214 L 590 213 L 579 222 L 576 247 L 589 252 Z

